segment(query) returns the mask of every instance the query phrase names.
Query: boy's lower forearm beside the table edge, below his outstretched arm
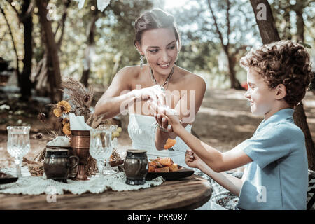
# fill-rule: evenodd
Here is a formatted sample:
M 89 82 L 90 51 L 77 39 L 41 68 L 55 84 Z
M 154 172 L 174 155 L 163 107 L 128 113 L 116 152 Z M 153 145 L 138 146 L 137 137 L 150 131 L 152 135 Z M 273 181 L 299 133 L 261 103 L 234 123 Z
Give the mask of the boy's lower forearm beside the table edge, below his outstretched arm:
M 239 196 L 241 192 L 241 186 L 243 185 L 241 179 L 232 176 L 230 174 L 226 174 L 225 172 L 217 173 L 214 172 L 207 164 L 202 162 L 202 165 L 198 167 L 204 174 L 210 176 L 214 181 L 223 186 L 223 188 L 229 190 L 233 194 Z

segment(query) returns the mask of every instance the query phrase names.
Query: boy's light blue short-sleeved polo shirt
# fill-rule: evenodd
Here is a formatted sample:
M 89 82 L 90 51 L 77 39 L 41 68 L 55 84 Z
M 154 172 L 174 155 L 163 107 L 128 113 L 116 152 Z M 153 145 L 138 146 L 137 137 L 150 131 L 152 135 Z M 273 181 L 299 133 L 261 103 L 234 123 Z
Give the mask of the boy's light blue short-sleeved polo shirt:
M 307 151 L 293 112 L 282 109 L 262 120 L 253 137 L 237 146 L 253 160 L 244 171 L 240 209 L 306 209 Z

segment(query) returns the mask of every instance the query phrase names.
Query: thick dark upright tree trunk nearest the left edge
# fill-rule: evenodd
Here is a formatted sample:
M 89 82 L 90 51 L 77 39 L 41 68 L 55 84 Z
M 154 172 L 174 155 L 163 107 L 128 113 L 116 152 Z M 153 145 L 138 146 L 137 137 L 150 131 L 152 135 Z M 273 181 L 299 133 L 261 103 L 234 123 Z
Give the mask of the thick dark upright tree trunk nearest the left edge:
M 20 18 L 24 27 L 24 59 L 23 59 L 23 71 L 20 83 L 20 92 L 22 100 L 29 100 L 31 97 L 31 59 L 33 57 L 33 47 L 32 47 L 32 32 L 33 32 L 33 17 L 31 13 L 28 13 L 29 6 L 31 4 L 30 0 L 23 1 L 22 13 Z

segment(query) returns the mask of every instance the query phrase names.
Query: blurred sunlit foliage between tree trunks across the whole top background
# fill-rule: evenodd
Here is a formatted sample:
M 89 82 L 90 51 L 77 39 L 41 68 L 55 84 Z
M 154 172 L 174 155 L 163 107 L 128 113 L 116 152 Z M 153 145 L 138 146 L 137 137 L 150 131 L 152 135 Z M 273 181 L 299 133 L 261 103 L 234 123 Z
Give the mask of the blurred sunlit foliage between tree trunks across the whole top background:
M 219 69 L 222 46 L 207 0 L 183 1 L 186 1 L 186 4 L 181 7 L 163 8 L 166 1 L 111 0 L 106 10 L 97 14 L 94 51 L 90 55 L 92 61 L 90 85 L 100 87 L 109 85 L 113 76 L 124 66 L 139 64 L 139 53 L 134 48 L 133 43 L 134 21 L 145 10 L 159 7 L 172 13 L 179 27 L 182 48 L 176 63 L 204 77 L 211 84 L 211 87 L 228 86 L 229 80 L 226 72 Z M 15 8 L 20 12 L 23 0 L 15 2 L 17 3 Z M 53 14 L 57 20 L 52 21 L 52 29 L 57 30 L 55 35 L 57 41 L 62 34 L 62 29 L 60 27 L 57 29 L 57 27 L 64 12 L 64 1 L 50 0 L 49 2 L 55 6 Z M 296 38 L 297 29 L 294 10 L 302 2 L 304 4 L 305 25 L 305 40 L 303 42 L 307 43 L 308 46 L 314 45 L 314 1 L 270 0 L 269 2 L 281 38 L 293 39 Z M 260 45 L 261 41 L 250 2 L 230 0 L 230 3 L 230 38 L 228 39 L 226 1 L 211 1 L 214 13 L 218 18 L 218 27 L 223 34 L 223 42 L 230 44 L 230 53 L 235 53 L 237 78 L 243 81 L 246 80 L 246 73 L 240 68 L 239 59 L 251 47 Z M 83 74 L 87 31 L 94 15 L 91 6 L 97 6 L 95 0 L 86 0 L 82 9 L 78 8 L 78 2 L 71 1 L 67 10 L 64 36 L 59 50 L 59 62 L 63 78 L 71 76 L 80 80 Z M 23 27 L 8 1 L 2 1 L 1 7 L 10 22 L 20 59 L 19 66 L 22 70 L 24 57 Z M 36 71 L 36 66 L 45 52 L 43 33 L 38 20 L 38 9 L 35 7 L 33 13 L 33 72 Z M 242 46 L 245 48 L 241 48 Z M 241 50 L 237 51 L 237 49 Z M 13 44 L 2 14 L 0 14 L 0 57 L 11 61 L 11 66 L 16 65 Z

